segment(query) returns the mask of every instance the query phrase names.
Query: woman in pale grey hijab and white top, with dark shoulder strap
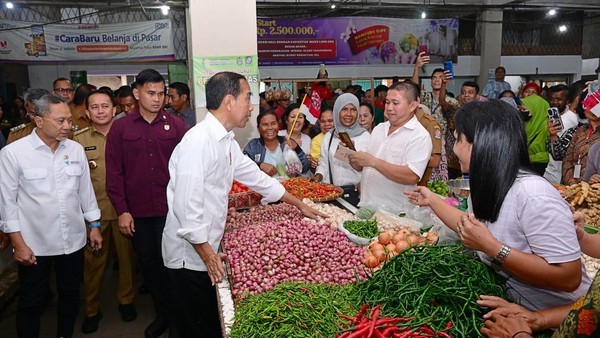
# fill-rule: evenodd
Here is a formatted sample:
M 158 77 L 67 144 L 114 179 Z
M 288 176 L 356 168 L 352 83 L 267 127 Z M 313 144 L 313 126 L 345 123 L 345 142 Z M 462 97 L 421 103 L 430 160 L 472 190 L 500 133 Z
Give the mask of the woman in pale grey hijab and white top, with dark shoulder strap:
M 321 142 L 321 156 L 315 170 L 313 180 L 333 184 L 344 189 L 344 198 L 356 205 L 358 192 L 356 185 L 360 182 L 360 172 L 354 170 L 347 161 L 335 158 L 340 144 L 339 133 L 348 133 L 357 151 L 365 151 L 369 144 L 369 132 L 358 123 L 360 103 L 354 94 L 340 95 L 333 106 L 334 128 Z

